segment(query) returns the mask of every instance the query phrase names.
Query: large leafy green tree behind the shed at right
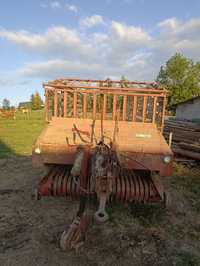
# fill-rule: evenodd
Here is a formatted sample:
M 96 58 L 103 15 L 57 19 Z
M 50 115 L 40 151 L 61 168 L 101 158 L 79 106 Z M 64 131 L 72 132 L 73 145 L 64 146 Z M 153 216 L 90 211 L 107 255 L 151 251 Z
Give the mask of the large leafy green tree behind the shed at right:
M 169 106 L 200 94 L 200 63 L 176 53 L 161 66 L 156 79 L 169 92 Z

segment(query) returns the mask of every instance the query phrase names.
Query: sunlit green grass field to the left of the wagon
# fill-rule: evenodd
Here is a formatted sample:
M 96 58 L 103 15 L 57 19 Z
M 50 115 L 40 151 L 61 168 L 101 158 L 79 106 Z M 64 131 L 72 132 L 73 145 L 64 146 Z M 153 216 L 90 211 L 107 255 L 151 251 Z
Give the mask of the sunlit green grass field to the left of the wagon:
M 30 155 L 32 144 L 45 125 L 44 111 L 17 113 L 16 119 L 0 119 L 0 158 Z

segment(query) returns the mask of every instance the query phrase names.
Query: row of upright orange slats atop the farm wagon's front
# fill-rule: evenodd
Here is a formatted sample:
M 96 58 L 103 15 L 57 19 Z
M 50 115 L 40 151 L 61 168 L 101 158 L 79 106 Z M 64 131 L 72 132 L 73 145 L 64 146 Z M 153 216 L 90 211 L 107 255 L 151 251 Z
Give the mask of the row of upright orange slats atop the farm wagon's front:
M 72 98 L 69 99 L 68 97 Z M 72 95 L 72 96 L 71 96 Z M 79 95 L 81 95 L 81 103 L 79 101 Z M 97 97 L 100 95 L 100 98 Z M 130 119 L 134 122 L 150 122 L 150 123 L 158 123 L 158 115 L 159 112 L 159 127 L 162 129 L 164 123 L 164 110 L 166 106 L 166 95 L 160 94 L 149 94 L 149 93 L 132 93 L 125 91 L 121 93 L 121 91 L 107 91 L 106 93 L 98 93 L 97 91 L 91 90 L 46 90 L 45 91 L 45 110 L 46 110 L 46 120 L 49 120 L 49 97 L 53 96 L 53 116 L 54 117 L 68 117 L 68 114 L 72 114 L 72 117 L 82 117 L 88 118 L 91 117 L 93 119 L 100 119 L 100 116 L 103 116 L 103 119 L 116 119 L 117 112 L 120 112 L 119 119 L 122 121 L 130 121 Z M 111 98 L 109 98 L 112 96 Z M 140 99 L 139 99 L 140 98 Z M 151 98 L 151 99 L 150 99 Z M 159 100 L 158 98 L 163 98 L 163 100 Z M 108 102 L 109 99 L 109 102 Z M 139 99 L 139 100 L 138 100 Z M 100 100 L 100 102 L 99 102 Z M 112 102 L 111 102 L 112 101 Z M 120 106 L 119 105 L 120 102 Z M 71 103 L 71 104 L 69 104 Z M 88 103 L 90 105 L 88 106 Z M 109 105 L 108 105 L 109 103 Z M 112 103 L 112 109 L 110 110 L 110 104 Z M 81 104 L 81 106 L 80 106 Z M 131 106 L 129 106 L 131 104 Z M 158 105 L 160 105 L 158 108 Z M 92 105 L 92 106 L 91 106 Z M 100 105 L 100 109 L 98 110 L 97 115 L 97 105 Z M 109 106 L 109 107 L 108 107 Z M 59 107 L 59 108 L 58 108 Z M 70 108 L 70 110 L 69 110 Z M 120 108 L 120 110 L 119 110 Z M 59 109 L 59 110 L 58 110 Z M 109 109 L 109 110 L 108 110 Z M 81 111 L 80 111 L 81 110 Z M 71 112 L 70 112 L 71 111 Z M 81 112 L 81 113 L 80 113 Z M 91 113 L 91 116 L 88 114 Z M 109 112 L 109 116 L 108 116 Z M 129 114 L 127 114 L 129 112 Z M 131 115 L 130 115 L 131 112 Z

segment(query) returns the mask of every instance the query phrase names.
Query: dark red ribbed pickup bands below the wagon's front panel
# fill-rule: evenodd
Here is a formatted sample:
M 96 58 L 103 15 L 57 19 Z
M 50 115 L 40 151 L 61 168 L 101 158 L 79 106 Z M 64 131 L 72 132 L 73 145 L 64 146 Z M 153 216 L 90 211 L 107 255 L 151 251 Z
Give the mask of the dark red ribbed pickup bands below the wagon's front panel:
M 68 197 L 78 200 L 83 192 L 82 186 L 74 182 L 70 175 L 71 168 L 67 166 L 52 167 L 50 172 L 39 184 L 38 193 L 46 197 Z M 149 178 L 148 173 L 135 172 L 129 169 L 121 169 L 115 182 L 112 182 L 112 193 L 109 193 L 109 200 L 114 202 L 139 201 L 153 203 L 163 200 L 160 190 Z M 89 176 L 86 192 L 90 197 L 95 196 L 92 188 L 92 177 Z

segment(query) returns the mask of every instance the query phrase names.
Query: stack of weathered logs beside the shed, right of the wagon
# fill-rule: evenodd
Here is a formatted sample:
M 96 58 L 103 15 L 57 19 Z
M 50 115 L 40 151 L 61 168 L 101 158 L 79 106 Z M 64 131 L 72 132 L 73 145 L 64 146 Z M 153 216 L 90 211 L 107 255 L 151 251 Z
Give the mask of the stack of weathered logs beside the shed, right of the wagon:
M 172 132 L 172 150 L 175 154 L 200 160 L 200 124 L 180 120 L 166 120 L 164 136 Z

